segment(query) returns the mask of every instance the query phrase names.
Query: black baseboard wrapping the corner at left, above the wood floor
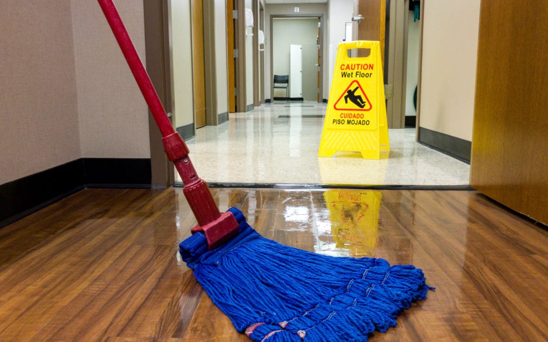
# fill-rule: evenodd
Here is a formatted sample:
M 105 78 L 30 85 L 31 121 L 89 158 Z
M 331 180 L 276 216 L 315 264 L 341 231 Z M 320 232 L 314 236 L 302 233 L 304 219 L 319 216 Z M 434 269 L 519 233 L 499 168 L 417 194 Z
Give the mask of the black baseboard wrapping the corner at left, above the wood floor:
M 0 228 L 84 188 L 151 188 L 150 158 L 80 158 L 0 184 Z

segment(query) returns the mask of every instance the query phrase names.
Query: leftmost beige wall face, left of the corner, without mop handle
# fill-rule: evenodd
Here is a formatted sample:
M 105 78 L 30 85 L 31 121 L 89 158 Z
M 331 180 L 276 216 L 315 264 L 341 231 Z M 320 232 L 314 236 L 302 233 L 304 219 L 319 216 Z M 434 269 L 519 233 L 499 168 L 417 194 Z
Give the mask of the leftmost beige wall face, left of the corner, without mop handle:
M 0 184 L 80 158 L 70 0 L 0 3 Z

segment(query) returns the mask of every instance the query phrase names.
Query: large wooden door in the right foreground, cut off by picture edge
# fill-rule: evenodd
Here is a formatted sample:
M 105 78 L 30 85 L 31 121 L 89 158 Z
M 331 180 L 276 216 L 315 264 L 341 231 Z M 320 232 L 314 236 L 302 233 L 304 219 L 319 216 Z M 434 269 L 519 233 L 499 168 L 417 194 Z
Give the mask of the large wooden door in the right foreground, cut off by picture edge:
M 546 18 L 546 1 L 481 2 L 470 166 L 473 188 L 544 224 L 548 224 Z

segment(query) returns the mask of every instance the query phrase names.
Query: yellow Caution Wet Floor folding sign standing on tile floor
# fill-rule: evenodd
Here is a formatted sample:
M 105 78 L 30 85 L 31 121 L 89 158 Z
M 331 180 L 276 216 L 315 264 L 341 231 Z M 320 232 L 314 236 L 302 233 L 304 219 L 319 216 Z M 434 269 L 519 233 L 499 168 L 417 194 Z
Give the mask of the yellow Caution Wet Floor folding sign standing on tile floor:
M 349 57 L 351 49 L 370 52 L 367 57 Z M 348 151 L 380 159 L 389 150 L 380 44 L 340 43 L 318 156 Z

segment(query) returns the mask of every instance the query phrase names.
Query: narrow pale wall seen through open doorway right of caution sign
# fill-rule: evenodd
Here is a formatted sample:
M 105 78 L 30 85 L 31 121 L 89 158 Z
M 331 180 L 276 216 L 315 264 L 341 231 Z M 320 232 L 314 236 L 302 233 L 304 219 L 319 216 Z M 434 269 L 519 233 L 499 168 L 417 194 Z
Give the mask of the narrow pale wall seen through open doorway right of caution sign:
M 407 88 L 406 88 L 406 115 L 416 115 L 416 109 L 413 105 L 413 95 L 419 78 L 419 38 L 420 22 L 413 21 L 415 15 L 413 11 L 408 11 L 409 26 L 407 38 Z

